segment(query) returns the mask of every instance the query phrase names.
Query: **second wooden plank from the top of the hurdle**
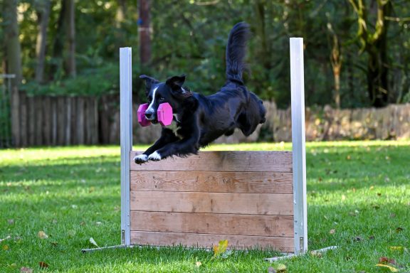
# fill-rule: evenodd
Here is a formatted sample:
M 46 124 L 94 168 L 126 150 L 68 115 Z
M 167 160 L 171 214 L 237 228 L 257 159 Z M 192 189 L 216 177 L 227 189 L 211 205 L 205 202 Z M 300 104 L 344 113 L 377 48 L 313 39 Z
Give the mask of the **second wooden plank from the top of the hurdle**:
M 131 171 L 131 191 L 293 193 L 292 173 Z

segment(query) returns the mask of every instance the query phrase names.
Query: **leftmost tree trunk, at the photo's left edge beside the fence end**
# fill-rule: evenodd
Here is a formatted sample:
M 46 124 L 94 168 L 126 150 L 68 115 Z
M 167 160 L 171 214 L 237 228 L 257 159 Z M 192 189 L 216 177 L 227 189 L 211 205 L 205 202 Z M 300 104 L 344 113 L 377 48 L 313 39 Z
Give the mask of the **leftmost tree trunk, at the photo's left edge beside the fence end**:
M 21 45 L 19 41 L 19 24 L 17 23 L 17 0 L 4 1 L 3 23 L 6 48 L 6 73 L 14 74 L 11 79 L 11 136 L 14 144 L 20 146 L 19 128 L 19 85 L 21 83 Z

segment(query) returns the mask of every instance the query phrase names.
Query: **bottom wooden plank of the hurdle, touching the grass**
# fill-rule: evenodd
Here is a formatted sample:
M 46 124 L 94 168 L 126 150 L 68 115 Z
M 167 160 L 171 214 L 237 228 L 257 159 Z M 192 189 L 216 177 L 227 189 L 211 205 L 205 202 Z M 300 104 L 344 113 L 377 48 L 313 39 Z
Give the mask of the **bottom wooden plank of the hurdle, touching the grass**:
M 177 232 L 132 231 L 132 245 L 160 245 L 187 247 L 212 247 L 220 240 L 228 240 L 229 248 L 244 249 L 251 247 L 268 248 L 283 252 L 293 252 L 293 237 L 266 237 L 244 235 L 209 235 Z

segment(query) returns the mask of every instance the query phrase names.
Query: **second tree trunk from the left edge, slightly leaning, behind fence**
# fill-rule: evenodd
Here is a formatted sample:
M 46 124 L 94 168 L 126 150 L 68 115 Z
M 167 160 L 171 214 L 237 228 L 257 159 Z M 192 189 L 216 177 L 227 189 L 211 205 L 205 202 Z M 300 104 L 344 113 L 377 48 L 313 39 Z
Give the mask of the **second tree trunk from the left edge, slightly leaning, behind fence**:
M 36 43 L 36 82 L 42 83 L 44 80 L 44 63 L 46 59 L 47 26 L 50 18 L 50 0 L 40 2 L 38 6 L 38 34 Z

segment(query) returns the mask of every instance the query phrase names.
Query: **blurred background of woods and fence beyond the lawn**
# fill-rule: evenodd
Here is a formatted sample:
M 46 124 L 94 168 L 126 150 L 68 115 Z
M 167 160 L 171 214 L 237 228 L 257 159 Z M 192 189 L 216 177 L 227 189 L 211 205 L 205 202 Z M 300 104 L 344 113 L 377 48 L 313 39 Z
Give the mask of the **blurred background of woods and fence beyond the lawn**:
M 2 0 L 0 147 L 117 144 L 119 48 L 140 74 L 186 73 L 204 95 L 225 81 L 228 32 L 251 25 L 248 88 L 268 121 L 248 139 L 290 141 L 289 38 L 305 43 L 308 140 L 410 137 L 408 0 Z M 149 143 L 159 127 L 134 127 Z

